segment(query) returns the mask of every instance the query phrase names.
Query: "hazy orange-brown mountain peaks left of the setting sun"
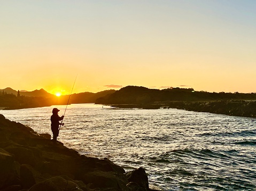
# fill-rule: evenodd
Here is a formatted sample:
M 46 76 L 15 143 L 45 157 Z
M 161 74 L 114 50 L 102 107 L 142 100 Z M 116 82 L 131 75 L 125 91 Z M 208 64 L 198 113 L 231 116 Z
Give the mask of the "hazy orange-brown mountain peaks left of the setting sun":
M 18 95 L 18 91 L 14 90 L 10 87 L 7 87 L 5 89 L 0 89 L 0 92 L 4 92 L 6 94 L 13 94 L 15 96 Z M 28 97 L 48 97 L 48 96 L 54 96 L 53 94 L 50 94 L 48 92 L 46 92 L 44 89 L 40 89 L 40 90 L 34 90 L 32 92 L 28 92 L 26 90 L 20 90 L 20 95 L 21 96 L 28 96 Z

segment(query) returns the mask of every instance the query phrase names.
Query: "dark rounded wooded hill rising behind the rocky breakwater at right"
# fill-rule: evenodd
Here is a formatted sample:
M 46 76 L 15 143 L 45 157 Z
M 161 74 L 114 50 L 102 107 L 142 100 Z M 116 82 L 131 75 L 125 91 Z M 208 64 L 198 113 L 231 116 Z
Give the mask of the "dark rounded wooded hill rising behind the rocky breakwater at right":
M 127 86 L 111 95 L 96 99 L 97 104 L 152 104 L 168 101 L 217 101 L 217 100 L 256 100 L 255 93 L 209 93 L 197 92 L 193 88 L 149 89 Z

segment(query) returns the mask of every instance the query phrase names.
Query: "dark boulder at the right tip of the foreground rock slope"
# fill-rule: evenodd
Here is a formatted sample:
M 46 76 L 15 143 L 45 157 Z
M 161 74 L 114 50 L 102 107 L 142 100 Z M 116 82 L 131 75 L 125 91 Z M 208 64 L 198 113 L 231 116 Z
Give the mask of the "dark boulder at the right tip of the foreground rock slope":
M 136 182 L 140 187 L 144 188 L 145 190 L 149 190 L 148 176 L 142 167 L 127 172 L 126 176 L 129 182 Z

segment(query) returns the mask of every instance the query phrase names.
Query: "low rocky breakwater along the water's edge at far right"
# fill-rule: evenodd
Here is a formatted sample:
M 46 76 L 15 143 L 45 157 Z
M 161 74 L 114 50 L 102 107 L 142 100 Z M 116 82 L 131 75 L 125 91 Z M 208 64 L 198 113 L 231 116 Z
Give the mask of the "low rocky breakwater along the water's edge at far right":
M 114 104 L 112 107 L 140 109 L 169 109 L 208 112 L 237 117 L 256 118 L 256 101 L 169 101 L 153 104 Z

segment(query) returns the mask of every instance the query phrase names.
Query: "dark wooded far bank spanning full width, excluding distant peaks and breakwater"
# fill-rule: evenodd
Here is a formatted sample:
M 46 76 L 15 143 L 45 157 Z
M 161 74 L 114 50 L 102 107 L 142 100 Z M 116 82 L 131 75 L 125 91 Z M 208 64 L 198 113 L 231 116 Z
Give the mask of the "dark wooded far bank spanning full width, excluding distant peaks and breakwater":
M 7 109 L 21 109 L 28 107 L 42 107 L 50 105 L 66 105 L 69 95 L 64 96 L 24 96 L 7 94 L 0 91 L 0 107 Z M 98 93 L 83 92 L 72 94 L 69 104 L 96 103 L 96 104 L 138 104 L 168 103 L 173 101 L 231 101 L 231 100 L 256 100 L 255 93 L 210 93 L 195 91 L 193 88 L 167 88 L 149 89 L 139 86 L 127 86 L 120 90 L 104 90 Z

